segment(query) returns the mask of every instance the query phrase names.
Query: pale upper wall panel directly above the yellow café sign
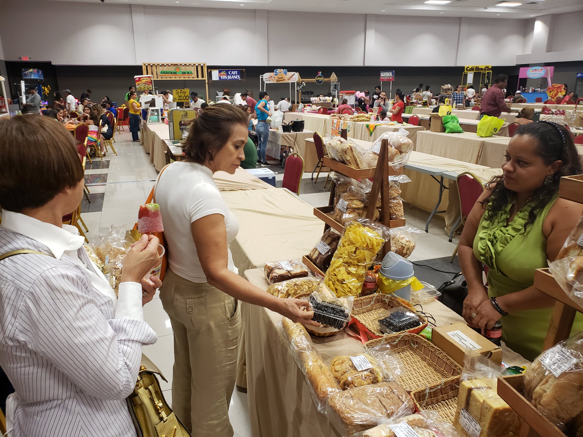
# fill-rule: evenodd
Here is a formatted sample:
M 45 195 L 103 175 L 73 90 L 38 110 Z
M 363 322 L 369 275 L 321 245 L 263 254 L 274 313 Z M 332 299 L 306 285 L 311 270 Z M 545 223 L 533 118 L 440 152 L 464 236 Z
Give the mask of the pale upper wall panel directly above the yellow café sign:
M 524 53 L 529 20 L 465 19 L 459 38 L 457 65 L 515 65 Z

